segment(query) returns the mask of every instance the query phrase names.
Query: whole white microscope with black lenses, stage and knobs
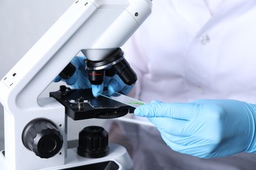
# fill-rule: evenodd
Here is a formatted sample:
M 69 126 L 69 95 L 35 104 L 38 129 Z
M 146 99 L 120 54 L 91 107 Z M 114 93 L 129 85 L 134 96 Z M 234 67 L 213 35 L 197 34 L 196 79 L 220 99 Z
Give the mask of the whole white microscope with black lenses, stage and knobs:
M 85 127 L 78 147 L 68 147 L 67 139 L 68 116 L 74 121 L 116 118 L 132 112 L 131 107 L 95 99 L 91 89 L 60 86 L 49 97 L 39 95 L 57 75 L 70 78 L 74 74 L 70 61 L 79 52 L 86 56 L 85 69 L 92 84 L 101 84 L 110 73 L 134 84 L 136 74 L 119 47 L 151 10 L 151 0 L 76 0 L 12 67 L 0 82 L 5 117 L 1 170 L 133 169 L 127 150 L 108 144 L 108 132 L 102 127 Z

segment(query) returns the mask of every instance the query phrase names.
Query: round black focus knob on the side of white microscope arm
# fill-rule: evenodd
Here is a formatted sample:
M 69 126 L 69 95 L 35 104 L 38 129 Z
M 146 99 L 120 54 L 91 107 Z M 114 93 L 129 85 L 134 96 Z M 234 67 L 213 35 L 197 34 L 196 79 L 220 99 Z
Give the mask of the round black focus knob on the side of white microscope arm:
M 53 122 L 40 118 L 24 128 L 22 142 L 40 158 L 51 158 L 62 148 L 63 138 Z

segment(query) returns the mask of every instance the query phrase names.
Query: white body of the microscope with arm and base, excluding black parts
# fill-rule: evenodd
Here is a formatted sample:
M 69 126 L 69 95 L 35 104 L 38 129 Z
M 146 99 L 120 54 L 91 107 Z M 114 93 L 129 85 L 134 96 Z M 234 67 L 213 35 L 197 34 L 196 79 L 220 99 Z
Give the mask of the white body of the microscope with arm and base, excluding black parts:
M 151 9 L 150 0 L 77 0 L 14 65 L 0 82 L 5 112 L 0 169 L 65 169 L 105 160 L 115 161 L 119 169 L 133 168 L 125 148 L 116 144 L 110 144 L 108 156 L 97 159 L 83 158 L 75 148 L 68 149 L 64 106 L 53 97 L 39 95 L 78 52 L 92 61 L 104 60 L 131 37 Z M 62 137 L 60 149 L 50 158 L 35 155 L 22 141 L 26 126 L 38 119 L 49 120 Z

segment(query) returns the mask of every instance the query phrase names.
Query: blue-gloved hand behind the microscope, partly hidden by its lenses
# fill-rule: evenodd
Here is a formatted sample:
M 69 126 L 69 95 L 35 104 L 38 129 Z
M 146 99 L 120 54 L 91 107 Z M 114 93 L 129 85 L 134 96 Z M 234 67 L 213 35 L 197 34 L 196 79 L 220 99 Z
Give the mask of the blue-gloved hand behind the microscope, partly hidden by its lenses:
M 104 87 L 108 87 L 108 91 L 110 92 L 121 92 L 125 94 L 129 93 L 133 88 L 133 86 L 125 84 L 117 75 L 112 77 L 105 76 L 102 84 L 92 85 L 89 81 L 88 71 L 85 70 L 84 59 L 85 57 L 75 57 L 72 59 L 71 63 L 76 67 L 74 75 L 66 80 L 62 79 L 60 76 L 56 76 L 53 82 L 62 80 L 75 89 L 92 88 L 95 97 L 98 97 L 98 93 L 101 93 Z

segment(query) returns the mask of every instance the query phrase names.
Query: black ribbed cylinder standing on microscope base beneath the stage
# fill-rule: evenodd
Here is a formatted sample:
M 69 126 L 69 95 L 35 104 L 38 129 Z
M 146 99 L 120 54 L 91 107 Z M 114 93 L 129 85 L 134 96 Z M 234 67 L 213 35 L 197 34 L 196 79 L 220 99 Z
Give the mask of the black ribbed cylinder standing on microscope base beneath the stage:
M 79 132 L 77 154 L 85 158 L 101 158 L 109 153 L 108 132 L 100 126 L 87 126 Z

